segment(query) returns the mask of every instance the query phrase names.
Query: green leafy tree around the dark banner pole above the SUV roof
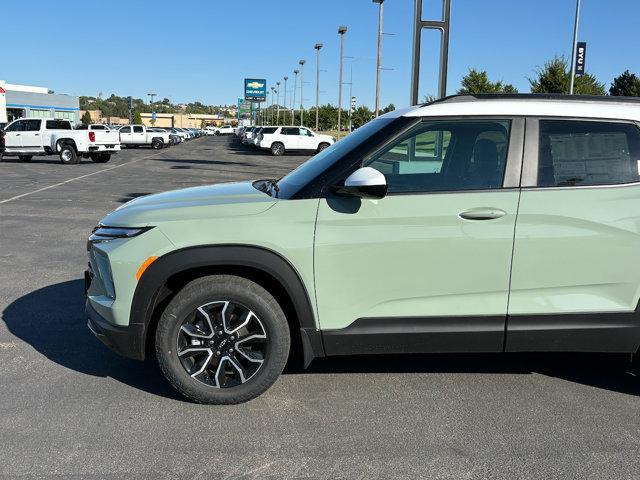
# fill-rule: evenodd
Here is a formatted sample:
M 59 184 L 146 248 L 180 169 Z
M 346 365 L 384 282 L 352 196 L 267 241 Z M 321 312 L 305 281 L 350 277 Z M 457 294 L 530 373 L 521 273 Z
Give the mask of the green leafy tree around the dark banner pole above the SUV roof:
M 529 79 L 531 93 L 569 93 L 570 75 L 567 60 L 553 57 L 537 69 L 535 78 Z M 577 95 L 606 94 L 604 84 L 589 73 L 575 78 L 573 92 Z

